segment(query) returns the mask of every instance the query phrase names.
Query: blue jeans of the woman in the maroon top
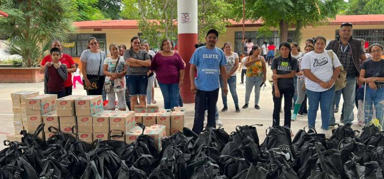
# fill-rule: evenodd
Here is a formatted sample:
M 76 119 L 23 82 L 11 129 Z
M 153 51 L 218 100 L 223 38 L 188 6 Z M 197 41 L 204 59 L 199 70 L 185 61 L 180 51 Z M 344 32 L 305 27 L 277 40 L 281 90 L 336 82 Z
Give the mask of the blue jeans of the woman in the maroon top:
M 159 83 L 161 93 L 163 94 L 164 108 L 173 109 L 174 107 L 179 106 L 179 83 L 164 84 L 160 81 L 157 82 Z

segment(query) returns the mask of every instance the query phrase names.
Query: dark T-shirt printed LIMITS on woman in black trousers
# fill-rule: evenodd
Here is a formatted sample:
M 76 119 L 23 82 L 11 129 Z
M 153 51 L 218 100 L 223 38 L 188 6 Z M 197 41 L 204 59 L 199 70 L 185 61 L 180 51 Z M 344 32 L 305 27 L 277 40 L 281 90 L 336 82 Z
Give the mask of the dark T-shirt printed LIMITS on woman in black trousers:
M 283 58 L 278 57 L 273 59 L 271 70 L 277 70 L 278 75 L 290 74 L 292 71 L 299 72 L 297 59 L 294 57 Z M 293 87 L 293 78 L 279 78 L 278 79 L 278 87 L 279 89 L 287 89 Z

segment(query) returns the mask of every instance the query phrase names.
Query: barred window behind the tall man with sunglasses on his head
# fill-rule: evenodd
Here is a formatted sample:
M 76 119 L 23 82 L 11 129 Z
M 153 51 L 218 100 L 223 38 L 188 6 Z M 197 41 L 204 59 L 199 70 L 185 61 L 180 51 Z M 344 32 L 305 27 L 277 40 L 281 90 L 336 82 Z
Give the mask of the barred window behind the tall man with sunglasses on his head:
M 336 30 L 335 38 L 338 36 L 338 30 Z M 352 37 L 364 39 L 369 45 L 373 43 L 384 45 L 384 29 L 353 29 Z

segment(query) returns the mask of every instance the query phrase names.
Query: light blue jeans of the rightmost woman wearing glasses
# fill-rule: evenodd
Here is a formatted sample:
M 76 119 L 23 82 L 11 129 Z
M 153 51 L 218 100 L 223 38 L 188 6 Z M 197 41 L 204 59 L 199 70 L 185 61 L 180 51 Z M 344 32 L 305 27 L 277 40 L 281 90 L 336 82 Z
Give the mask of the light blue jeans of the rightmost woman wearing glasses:
M 366 99 L 364 106 L 364 123 L 367 124 L 372 120 L 373 106 L 376 110 L 376 118 L 382 125 L 382 119 L 384 118 L 384 88 L 372 89 L 369 86 L 366 88 Z M 383 127 L 384 128 L 384 127 Z

